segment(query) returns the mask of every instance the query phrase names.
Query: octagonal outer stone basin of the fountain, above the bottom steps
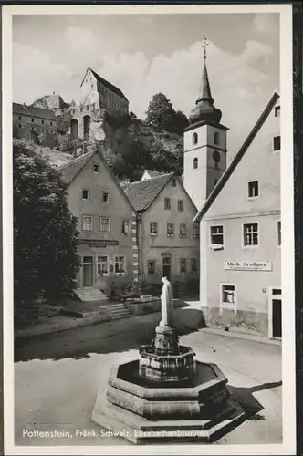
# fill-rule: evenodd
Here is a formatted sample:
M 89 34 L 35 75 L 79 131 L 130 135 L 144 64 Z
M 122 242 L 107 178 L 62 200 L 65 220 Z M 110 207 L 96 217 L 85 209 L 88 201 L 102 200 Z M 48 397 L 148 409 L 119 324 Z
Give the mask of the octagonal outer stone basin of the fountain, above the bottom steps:
M 229 399 L 227 378 L 214 364 L 196 362 L 195 376 L 180 382 L 141 378 L 139 368 L 139 359 L 113 366 L 106 398 L 149 420 L 210 417 Z

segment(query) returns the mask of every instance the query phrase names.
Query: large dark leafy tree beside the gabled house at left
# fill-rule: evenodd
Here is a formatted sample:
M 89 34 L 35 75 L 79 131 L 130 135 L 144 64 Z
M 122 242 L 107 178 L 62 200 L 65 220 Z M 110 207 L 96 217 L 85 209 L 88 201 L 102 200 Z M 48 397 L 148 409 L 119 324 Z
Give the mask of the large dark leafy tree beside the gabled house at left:
M 15 303 L 22 307 L 71 292 L 78 232 L 58 171 L 24 140 L 14 140 L 13 161 Z

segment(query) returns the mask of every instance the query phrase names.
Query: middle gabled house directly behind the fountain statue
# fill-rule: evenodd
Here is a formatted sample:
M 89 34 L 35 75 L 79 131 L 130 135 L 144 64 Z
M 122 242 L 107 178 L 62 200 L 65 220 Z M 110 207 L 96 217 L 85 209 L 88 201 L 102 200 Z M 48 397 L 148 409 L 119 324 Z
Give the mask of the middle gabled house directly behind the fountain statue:
M 197 210 L 173 173 L 162 174 L 125 187 L 137 212 L 139 280 L 142 285 L 188 285 L 199 278 Z

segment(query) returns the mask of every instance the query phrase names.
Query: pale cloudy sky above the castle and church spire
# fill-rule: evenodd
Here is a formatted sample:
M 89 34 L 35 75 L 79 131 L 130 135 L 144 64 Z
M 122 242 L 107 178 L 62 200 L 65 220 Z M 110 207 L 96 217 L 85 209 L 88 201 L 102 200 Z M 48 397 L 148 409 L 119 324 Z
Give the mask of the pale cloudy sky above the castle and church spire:
M 234 154 L 279 90 L 277 14 L 14 16 L 13 99 L 32 103 L 55 92 L 78 101 L 91 67 L 123 91 L 139 118 L 158 92 L 189 116 L 204 36 L 214 106 Z

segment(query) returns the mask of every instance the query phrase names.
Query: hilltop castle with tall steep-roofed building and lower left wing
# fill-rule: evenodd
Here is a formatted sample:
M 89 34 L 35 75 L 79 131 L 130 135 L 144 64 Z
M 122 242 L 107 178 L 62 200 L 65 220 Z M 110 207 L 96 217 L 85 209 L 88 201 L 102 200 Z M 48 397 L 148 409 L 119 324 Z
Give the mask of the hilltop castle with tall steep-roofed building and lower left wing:
M 103 140 L 104 132 L 100 127 L 105 113 L 110 116 L 128 116 L 129 100 L 120 88 L 101 78 L 91 68 L 86 70 L 80 88 L 79 104 L 75 101 L 66 103 L 54 92 L 37 98 L 29 106 L 13 103 L 14 137 L 37 141 L 40 134 L 39 143 L 43 146 L 54 147 L 57 142 L 68 142 L 69 147 L 69 140 Z M 15 112 L 16 107 L 18 112 Z M 53 125 L 57 128 L 48 129 L 46 133 L 47 111 L 54 118 Z

